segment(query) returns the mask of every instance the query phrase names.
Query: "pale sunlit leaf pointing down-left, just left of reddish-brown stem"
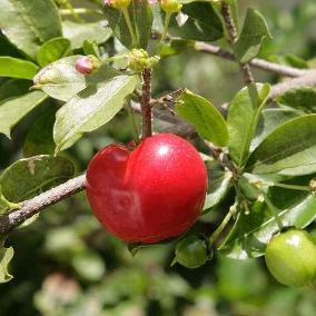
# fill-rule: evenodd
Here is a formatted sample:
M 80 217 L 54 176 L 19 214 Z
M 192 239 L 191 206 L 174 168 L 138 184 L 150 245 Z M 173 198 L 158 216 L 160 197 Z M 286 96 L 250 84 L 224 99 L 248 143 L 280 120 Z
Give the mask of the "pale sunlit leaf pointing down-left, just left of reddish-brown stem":
M 110 68 L 102 68 L 99 79 L 58 110 L 53 128 L 57 151 L 70 147 L 83 132 L 92 131 L 112 119 L 122 108 L 125 98 L 139 83 L 138 76 L 118 75 Z

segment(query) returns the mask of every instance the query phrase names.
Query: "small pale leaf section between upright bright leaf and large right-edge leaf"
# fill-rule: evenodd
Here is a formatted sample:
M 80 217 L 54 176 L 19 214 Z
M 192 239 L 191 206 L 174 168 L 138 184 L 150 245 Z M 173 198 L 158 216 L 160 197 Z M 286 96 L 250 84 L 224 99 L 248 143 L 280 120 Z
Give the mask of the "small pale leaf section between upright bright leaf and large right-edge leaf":
M 258 147 L 259 144 L 277 127 L 300 115 L 302 112 L 294 109 L 264 109 L 257 126 L 256 136 L 251 140 L 250 151 L 254 151 L 255 148 Z

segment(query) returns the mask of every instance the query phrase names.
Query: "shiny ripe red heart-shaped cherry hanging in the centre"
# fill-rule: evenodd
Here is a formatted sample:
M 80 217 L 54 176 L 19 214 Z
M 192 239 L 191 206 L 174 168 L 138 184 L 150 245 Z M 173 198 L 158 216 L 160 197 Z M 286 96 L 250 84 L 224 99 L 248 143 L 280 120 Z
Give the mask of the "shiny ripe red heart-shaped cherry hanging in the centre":
M 128 243 L 157 243 L 187 230 L 200 215 L 207 171 L 182 138 L 159 134 L 132 151 L 100 150 L 87 170 L 87 194 L 100 223 Z

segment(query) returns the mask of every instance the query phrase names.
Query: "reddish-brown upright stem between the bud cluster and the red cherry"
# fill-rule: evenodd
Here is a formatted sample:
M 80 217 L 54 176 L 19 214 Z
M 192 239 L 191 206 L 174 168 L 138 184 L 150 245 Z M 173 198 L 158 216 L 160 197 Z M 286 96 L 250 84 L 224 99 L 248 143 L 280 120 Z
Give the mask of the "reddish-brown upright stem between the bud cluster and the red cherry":
M 152 109 L 150 105 L 151 100 L 151 69 L 146 68 L 141 72 L 142 78 L 142 93 L 140 99 L 140 107 L 141 107 L 141 117 L 142 117 L 142 125 L 141 125 L 141 139 L 150 137 L 152 135 Z

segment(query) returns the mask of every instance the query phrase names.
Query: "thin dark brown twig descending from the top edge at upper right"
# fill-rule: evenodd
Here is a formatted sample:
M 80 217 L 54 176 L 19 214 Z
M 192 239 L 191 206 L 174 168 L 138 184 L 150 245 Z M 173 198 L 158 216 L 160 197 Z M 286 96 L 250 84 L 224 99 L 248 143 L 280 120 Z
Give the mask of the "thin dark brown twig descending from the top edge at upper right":
M 230 6 L 226 1 L 221 1 L 220 12 L 224 18 L 226 29 L 228 32 L 228 41 L 230 46 L 234 47 L 235 42 L 237 41 L 237 30 L 236 30 L 236 27 L 233 20 Z M 255 80 L 254 80 L 254 76 L 250 70 L 250 66 L 247 62 L 246 63 L 239 62 L 239 67 L 243 72 L 245 85 L 248 86 L 250 83 L 254 83 Z

